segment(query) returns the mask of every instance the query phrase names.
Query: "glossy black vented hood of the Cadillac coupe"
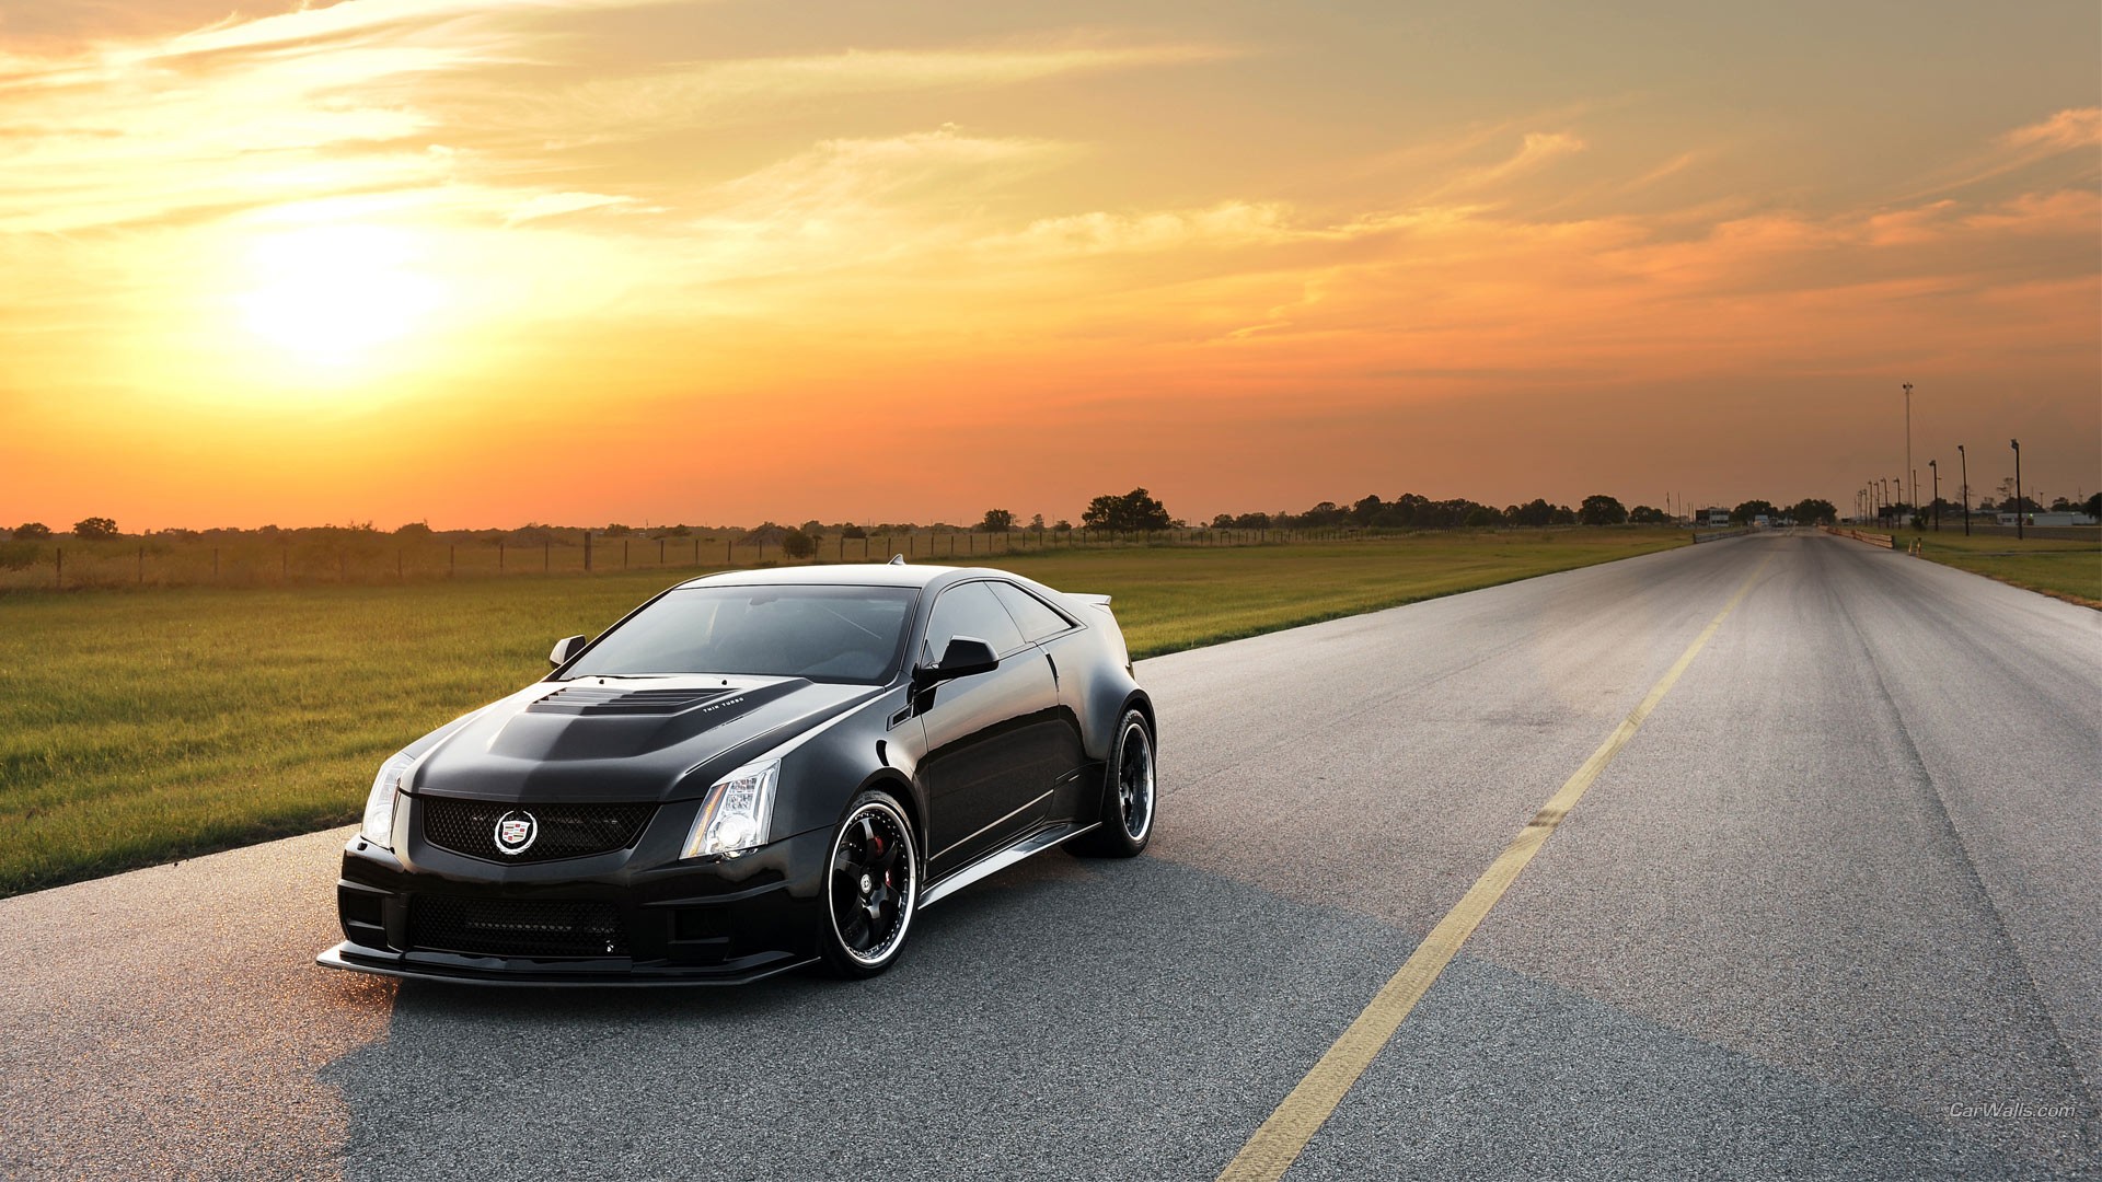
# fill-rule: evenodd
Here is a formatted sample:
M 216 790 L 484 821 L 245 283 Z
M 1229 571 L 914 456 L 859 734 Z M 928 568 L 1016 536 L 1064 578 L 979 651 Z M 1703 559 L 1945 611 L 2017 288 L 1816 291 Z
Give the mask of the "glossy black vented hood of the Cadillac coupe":
M 502 801 L 673 801 L 877 696 L 803 677 L 536 681 L 452 724 L 410 793 Z

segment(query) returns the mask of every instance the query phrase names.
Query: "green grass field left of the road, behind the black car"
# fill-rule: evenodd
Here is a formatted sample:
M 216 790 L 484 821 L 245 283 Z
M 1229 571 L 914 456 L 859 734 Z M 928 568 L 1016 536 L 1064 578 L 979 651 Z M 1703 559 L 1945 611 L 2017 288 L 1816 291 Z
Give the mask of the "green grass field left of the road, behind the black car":
M 1001 562 L 1114 595 L 1154 656 L 1684 543 L 1522 530 Z M 355 820 L 397 747 L 687 574 L 0 595 L 0 894 Z

